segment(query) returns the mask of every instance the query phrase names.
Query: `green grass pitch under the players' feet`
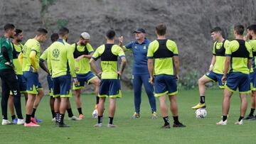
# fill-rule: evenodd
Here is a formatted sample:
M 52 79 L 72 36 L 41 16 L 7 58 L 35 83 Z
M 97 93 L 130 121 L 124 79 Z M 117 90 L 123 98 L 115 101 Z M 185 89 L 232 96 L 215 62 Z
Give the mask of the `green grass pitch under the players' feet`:
M 104 126 L 92 127 L 97 122 L 97 119 L 92 118 L 95 96 L 88 94 L 82 96 L 82 108 L 86 118 L 82 121 L 68 121 L 66 114 L 65 122 L 71 127 L 57 128 L 51 122 L 48 99 L 48 96 L 43 98 L 36 113 L 38 118 L 43 119 L 41 127 L 0 126 L 0 143 L 255 143 L 256 121 L 245 121 L 243 126 L 234 125 L 240 115 L 238 94 L 235 94 L 232 99 L 228 125 L 215 125 L 220 121 L 221 116 L 222 92 L 220 90 L 209 89 L 206 92 L 208 115 L 203 119 L 195 118 L 195 111 L 191 109 L 191 106 L 198 103 L 198 91 L 181 91 L 178 94 L 179 118 L 187 127 L 170 129 L 160 128 L 163 124 L 160 111 L 158 111 L 158 119 L 150 119 L 151 113 L 146 94 L 143 94 L 141 118 L 134 120 L 130 118 L 134 113 L 133 93 L 123 92 L 123 98 L 117 100 L 117 111 L 114 117 L 114 124 L 118 128 L 113 129 L 106 127 L 107 111 L 103 118 Z M 78 116 L 74 98 L 71 101 L 73 113 Z M 108 101 L 106 102 L 108 104 Z M 158 99 L 157 108 L 159 108 Z M 247 113 L 250 106 L 248 108 Z M 171 116 L 170 112 L 169 116 Z

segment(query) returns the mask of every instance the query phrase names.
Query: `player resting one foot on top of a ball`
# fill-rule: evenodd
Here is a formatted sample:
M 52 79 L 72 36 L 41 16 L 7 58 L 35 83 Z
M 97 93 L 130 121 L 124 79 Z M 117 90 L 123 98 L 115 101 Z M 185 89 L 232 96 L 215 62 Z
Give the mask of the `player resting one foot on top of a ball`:
M 210 31 L 213 38 L 213 57 L 210 62 L 209 72 L 198 79 L 198 88 L 200 95 L 200 102 L 193 106 L 192 109 L 206 108 L 206 86 L 208 82 L 218 82 L 220 89 L 224 89 L 224 84 L 221 82 L 223 77 L 223 69 L 225 62 L 225 49 L 228 46 L 229 41 L 223 38 L 223 31 L 220 27 L 215 27 Z

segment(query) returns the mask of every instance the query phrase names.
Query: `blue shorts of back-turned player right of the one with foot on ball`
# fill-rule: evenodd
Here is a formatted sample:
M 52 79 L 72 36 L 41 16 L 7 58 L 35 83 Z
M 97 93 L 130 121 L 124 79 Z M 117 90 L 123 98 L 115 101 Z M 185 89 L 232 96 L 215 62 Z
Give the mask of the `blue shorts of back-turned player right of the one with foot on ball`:
M 240 94 L 250 94 L 250 77 L 249 74 L 243 74 L 242 72 L 230 72 L 225 84 L 230 92 L 239 90 Z

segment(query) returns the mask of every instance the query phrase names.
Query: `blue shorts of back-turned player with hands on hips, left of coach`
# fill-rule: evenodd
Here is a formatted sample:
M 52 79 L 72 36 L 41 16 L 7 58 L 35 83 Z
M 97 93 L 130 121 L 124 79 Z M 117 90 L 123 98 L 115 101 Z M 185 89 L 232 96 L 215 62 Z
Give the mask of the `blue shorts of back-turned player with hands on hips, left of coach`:
M 99 97 L 121 98 L 121 84 L 119 79 L 101 79 Z

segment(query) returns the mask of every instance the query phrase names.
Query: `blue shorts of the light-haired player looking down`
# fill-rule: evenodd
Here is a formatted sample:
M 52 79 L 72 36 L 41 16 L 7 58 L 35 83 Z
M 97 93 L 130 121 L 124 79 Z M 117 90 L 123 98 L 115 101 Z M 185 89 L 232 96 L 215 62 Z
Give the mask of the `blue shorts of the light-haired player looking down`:
M 73 84 L 73 89 L 82 89 L 85 87 L 85 82 L 87 84 L 90 84 L 92 79 L 97 78 L 97 76 L 95 76 L 95 74 L 93 74 L 92 72 L 87 72 L 87 74 L 76 74 L 76 76 L 78 79 L 78 84 Z

